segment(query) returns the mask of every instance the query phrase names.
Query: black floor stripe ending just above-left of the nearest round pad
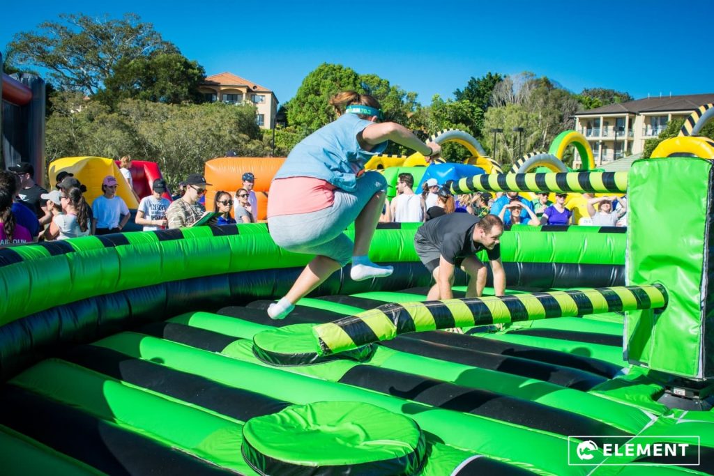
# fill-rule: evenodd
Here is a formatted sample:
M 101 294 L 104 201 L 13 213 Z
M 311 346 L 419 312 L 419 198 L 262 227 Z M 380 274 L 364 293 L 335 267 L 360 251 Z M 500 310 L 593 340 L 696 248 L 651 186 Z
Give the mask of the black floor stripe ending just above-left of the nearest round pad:
M 164 365 L 96 345 L 79 345 L 61 358 L 141 388 L 246 422 L 292 405 L 290 402 L 223 385 Z

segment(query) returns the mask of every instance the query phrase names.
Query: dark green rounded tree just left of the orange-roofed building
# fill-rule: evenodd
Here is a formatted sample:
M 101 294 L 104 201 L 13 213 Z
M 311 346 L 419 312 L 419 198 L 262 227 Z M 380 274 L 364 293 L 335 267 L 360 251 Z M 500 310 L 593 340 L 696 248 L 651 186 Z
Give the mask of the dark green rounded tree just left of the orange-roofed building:
M 116 64 L 114 74 L 94 97 L 109 106 L 129 98 L 170 104 L 198 103 L 202 100 L 198 87 L 205 78 L 203 66 L 181 54 L 125 58 Z

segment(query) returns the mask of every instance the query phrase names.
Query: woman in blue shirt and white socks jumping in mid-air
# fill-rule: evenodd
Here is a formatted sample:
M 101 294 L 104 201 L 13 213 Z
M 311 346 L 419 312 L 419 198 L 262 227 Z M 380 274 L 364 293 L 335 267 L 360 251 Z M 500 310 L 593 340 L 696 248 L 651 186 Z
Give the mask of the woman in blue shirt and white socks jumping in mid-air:
M 386 198 L 386 180 L 365 163 L 383 153 L 388 141 L 422 153 L 427 161 L 441 153 L 407 128 L 382 122 L 379 101 L 344 91 L 330 100 L 335 121 L 304 138 L 288 154 L 268 194 L 268 229 L 273 240 L 294 253 L 315 255 L 288 293 L 268 308 L 285 318 L 295 303 L 352 261 L 353 280 L 391 275 L 391 266 L 368 258 Z M 354 243 L 343 231 L 355 223 Z

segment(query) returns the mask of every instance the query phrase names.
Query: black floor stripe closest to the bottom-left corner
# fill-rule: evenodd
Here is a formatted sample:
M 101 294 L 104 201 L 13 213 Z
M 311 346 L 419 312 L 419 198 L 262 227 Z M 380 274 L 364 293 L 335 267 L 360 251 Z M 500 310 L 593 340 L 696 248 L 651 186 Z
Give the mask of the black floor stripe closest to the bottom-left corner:
M 108 475 L 235 475 L 156 440 L 6 385 L 0 422 Z

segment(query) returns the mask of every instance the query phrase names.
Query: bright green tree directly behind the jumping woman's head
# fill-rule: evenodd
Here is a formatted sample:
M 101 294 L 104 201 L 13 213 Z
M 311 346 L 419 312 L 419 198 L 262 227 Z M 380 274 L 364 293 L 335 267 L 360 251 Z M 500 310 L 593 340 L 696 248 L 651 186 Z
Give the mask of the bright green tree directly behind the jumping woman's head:
M 329 100 L 340 91 L 357 91 L 375 96 L 386 121 L 404 123 L 416 110 L 416 93 L 407 93 L 374 74 L 358 74 L 340 64 L 323 63 L 311 71 L 295 97 L 286 104 L 288 123 L 304 137 L 335 119 Z

